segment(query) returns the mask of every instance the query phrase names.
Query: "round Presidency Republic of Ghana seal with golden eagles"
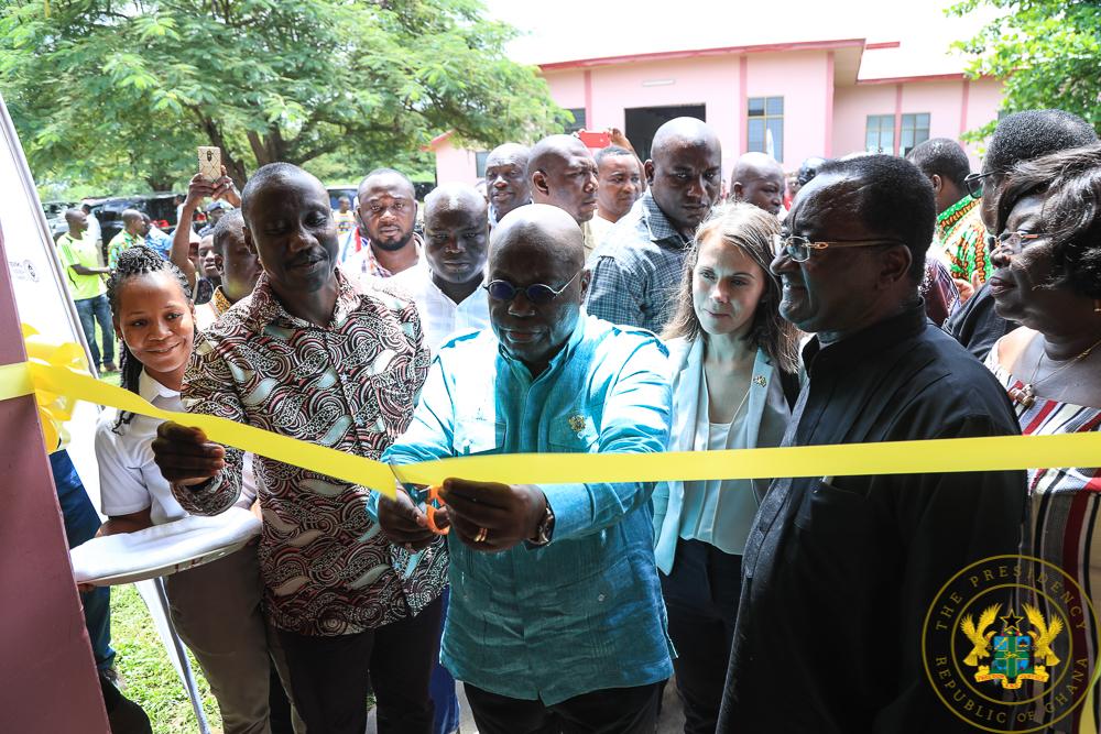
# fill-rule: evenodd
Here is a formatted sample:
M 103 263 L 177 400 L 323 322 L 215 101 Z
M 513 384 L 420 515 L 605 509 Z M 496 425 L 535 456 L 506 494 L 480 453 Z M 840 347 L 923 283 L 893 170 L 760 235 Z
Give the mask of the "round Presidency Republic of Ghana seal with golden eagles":
M 1097 681 L 1097 636 L 1093 607 L 1071 576 L 1039 558 L 998 556 L 940 589 L 922 651 L 930 684 L 956 715 L 988 732 L 1038 732 L 1080 710 Z

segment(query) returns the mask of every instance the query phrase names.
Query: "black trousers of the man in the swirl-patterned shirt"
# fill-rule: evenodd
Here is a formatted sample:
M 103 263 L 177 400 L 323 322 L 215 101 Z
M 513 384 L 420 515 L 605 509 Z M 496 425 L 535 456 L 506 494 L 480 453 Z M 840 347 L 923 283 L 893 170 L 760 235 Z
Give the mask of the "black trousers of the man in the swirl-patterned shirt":
M 319 637 L 280 629 L 291 692 L 306 728 L 363 734 L 370 681 L 380 734 L 432 734 L 428 680 L 439 656 L 442 605 L 437 599 L 415 617 L 353 635 Z

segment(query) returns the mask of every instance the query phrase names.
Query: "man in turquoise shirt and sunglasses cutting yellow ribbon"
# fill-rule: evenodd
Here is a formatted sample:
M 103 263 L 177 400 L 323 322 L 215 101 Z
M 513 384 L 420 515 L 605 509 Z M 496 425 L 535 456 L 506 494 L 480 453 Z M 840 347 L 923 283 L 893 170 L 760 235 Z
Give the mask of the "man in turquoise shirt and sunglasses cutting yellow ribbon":
M 662 451 L 667 352 L 650 332 L 581 316 L 589 273 L 574 219 L 521 207 L 494 229 L 491 252 L 492 331 L 440 350 L 412 426 L 383 460 Z M 442 657 L 466 683 L 478 731 L 654 731 L 673 666 L 653 489 L 444 481 L 436 523 L 446 514 L 453 529 Z M 378 513 L 395 543 L 435 537 L 404 491 Z

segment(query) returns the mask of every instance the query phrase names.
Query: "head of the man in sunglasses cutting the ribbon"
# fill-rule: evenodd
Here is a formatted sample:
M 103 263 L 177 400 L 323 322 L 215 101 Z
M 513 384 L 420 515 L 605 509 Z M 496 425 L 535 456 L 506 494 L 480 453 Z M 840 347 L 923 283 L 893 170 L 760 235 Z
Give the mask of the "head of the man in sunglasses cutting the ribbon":
M 577 222 L 533 204 L 493 230 L 489 313 L 504 352 L 541 374 L 574 333 L 589 287 Z

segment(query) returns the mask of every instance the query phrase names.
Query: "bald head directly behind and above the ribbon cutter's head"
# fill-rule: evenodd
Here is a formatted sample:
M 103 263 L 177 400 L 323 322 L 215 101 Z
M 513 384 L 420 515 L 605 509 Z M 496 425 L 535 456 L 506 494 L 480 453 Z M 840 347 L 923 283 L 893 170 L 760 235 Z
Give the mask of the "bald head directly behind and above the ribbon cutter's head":
M 597 211 L 597 162 L 573 135 L 549 135 L 535 144 L 527 182 L 533 201 L 565 209 L 579 224 Z

